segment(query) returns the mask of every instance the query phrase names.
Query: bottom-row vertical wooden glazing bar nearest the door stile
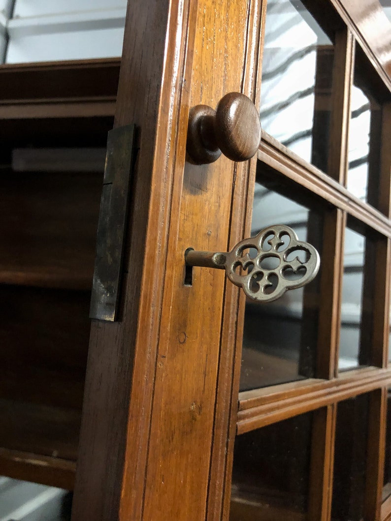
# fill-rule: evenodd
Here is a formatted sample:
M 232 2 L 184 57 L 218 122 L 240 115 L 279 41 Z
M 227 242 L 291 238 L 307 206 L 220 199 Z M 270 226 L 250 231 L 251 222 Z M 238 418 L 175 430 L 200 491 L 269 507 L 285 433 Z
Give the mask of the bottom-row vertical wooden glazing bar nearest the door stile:
M 314 413 L 308 521 L 328 521 L 333 490 L 336 404 Z

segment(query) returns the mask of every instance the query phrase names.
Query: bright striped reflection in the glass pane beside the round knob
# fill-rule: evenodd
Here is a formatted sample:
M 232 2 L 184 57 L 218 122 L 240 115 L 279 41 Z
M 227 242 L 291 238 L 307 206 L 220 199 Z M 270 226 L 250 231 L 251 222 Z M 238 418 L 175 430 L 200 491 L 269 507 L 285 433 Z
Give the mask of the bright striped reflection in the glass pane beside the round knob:
M 316 45 L 316 33 L 290 2 L 268 4 L 260 111 L 262 127 L 307 160 L 311 157 Z M 286 85 L 289 85 L 288 91 Z

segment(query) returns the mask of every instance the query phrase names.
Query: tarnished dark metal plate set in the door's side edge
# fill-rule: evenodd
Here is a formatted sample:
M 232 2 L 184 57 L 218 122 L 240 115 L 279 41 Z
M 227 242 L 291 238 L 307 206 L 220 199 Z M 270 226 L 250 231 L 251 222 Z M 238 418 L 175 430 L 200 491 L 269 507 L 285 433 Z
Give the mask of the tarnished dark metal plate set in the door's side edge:
M 134 136 L 135 126 L 127 125 L 107 137 L 90 306 L 90 318 L 99 320 L 117 318 Z

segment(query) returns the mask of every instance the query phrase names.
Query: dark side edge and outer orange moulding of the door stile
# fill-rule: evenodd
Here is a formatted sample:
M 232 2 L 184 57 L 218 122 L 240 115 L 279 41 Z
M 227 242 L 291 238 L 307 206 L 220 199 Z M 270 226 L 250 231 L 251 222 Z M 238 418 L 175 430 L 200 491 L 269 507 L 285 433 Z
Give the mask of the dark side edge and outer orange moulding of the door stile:
M 138 154 L 124 302 L 118 322 L 92 323 L 75 520 L 142 517 L 175 159 L 169 151 L 178 136 L 181 150 L 185 147 L 179 122 L 183 126 L 187 117 L 184 69 L 186 59 L 191 61 L 186 51 L 188 41 L 192 48 L 196 8 L 186 1 L 128 3 L 115 126 L 135 123 Z

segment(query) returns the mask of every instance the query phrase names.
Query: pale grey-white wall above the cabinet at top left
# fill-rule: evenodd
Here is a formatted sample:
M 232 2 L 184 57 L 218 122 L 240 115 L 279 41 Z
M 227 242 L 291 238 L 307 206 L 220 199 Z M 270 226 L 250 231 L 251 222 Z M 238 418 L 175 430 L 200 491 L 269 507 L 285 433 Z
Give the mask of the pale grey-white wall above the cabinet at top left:
M 126 0 L 16 0 L 13 9 L 9 6 L 14 2 L 0 0 L 0 8 L 5 2 L 3 24 L 0 19 L 0 29 L 6 29 L 3 62 L 121 55 Z

